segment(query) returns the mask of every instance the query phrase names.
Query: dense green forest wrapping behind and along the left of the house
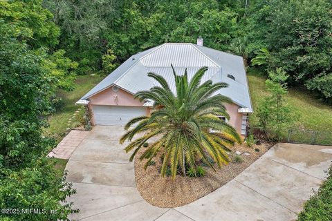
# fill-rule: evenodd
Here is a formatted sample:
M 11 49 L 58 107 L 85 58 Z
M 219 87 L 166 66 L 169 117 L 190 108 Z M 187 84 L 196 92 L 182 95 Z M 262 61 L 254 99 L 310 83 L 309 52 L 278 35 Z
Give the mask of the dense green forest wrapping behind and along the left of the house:
M 288 86 L 331 104 L 331 8 L 330 0 L 0 1 L 1 208 L 58 210 L 8 220 L 71 212 L 59 201 L 75 191 L 46 160 L 54 141 L 42 128 L 55 91 L 71 90 L 75 75 L 110 73 L 137 52 L 202 36 L 205 46 L 241 55 L 266 75 L 285 71 Z

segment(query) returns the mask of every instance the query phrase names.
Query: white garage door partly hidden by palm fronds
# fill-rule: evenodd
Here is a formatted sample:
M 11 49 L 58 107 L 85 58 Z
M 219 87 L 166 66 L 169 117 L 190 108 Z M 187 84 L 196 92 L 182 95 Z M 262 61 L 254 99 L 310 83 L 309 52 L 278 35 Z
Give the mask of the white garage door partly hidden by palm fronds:
M 147 115 L 146 107 L 93 105 L 95 124 L 124 126 L 133 117 Z

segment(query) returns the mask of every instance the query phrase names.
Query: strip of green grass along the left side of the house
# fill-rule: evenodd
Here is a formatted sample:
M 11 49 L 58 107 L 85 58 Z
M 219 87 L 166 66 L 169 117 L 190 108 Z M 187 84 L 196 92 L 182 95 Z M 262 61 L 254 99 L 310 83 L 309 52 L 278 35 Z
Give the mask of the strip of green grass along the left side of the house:
M 66 135 L 66 128 L 75 128 L 82 123 L 82 116 L 84 110 L 80 106 L 75 105 L 78 99 L 80 99 L 85 93 L 87 93 L 93 86 L 98 84 L 102 80 L 100 75 L 82 75 L 77 76 L 75 80 L 75 89 L 72 91 L 59 90 L 57 96 L 62 97 L 63 107 L 48 117 L 48 123 L 50 126 L 45 128 L 44 135 L 54 137 L 57 142 L 62 140 L 62 137 Z M 79 111 L 77 115 L 71 120 L 68 125 L 68 119 L 73 117 L 75 111 Z

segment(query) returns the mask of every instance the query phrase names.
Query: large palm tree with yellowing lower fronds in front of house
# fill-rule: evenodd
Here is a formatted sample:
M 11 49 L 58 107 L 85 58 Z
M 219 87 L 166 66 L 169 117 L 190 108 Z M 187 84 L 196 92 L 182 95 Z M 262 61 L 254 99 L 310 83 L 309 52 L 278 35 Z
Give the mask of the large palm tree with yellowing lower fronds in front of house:
M 122 144 L 126 140 L 130 142 L 124 148 L 127 153 L 135 149 L 130 157 L 130 161 L 132 161 L 143 144 L 154 138 L 156 142 L 153 142 L 142 153 L 140 160 L 147 158 L 145 164 L 145 169 L 147 169 L 149 162 L 158 152 L 162 151 L 163 164 L 160 173 L 165 176 L 167 167 L 170 166 L 174 180 L 178 167 L 185 175 L 186 168 L 195 170 L 198 158 L 213 169 L 210 157 L 218 166 L 228 164 L 230 157 L 225 151 L 230 151 L 228 146 L 232 146 L 234 142 L 241 142 L 241 139 L 232 126 L 216 116 L 222 115 L 229 119 L 223 103 L 229 103 L 231 100 L 220 94 L 213 95 L 217 90 L 228 85 L 225 83 L 213 84 L 211 80 L 201 82 L 203 75 L 208 70 L 207 67 L 199 69 L 189 82 L 187 70 L 181 76 L 176 74 L 173 66 L 172 69 L 176 95 L 172 93 L 162 76 L 148 73 L 148 76 L 158 81 L 160 86 L 140 91 L 136 93 L 136 97 L 141 101 L 153 100 L 155 111 L 149 117 L 131 119 L 124 126 L 127 133 L 121 137 L 120 143 Z M 209 133 L 209 128 L 219 132 Z M 144 135 L 133 140 L 134 135 L 142 133 Z

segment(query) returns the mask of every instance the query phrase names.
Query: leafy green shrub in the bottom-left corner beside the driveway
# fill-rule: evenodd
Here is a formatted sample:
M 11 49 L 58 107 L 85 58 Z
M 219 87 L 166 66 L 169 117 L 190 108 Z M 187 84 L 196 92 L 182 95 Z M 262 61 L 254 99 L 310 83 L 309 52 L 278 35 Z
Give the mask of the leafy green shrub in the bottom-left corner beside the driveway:
M 17 171 L 7 171 L 0 179 L 0 204 L 3 208 L 42 208 L 46 211 L 55 209 L 57 213 L 13 213 L 1 214 L 0 220 L 66 220 L 71 212 L 71 204 L 66 198 L 76 191 L 64 177 L 57 177 L 50 159 L 42 157 L 35 160 L 33 168 L 26 167 Z M 10 174 L 10 175 L 7 175 Z M 61 203 L 60 203 L 61 202 Z

